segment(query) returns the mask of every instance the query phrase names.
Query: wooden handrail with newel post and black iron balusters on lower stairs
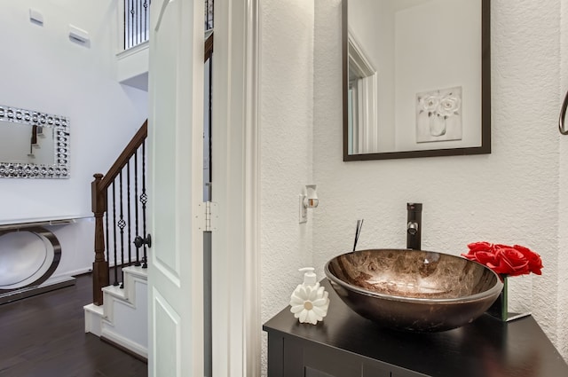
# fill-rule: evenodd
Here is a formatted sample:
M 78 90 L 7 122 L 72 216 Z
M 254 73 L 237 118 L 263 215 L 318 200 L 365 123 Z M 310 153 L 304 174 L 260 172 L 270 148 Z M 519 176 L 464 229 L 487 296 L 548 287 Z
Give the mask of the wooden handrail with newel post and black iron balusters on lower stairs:
M 102 305 L 102 288 L 110 285 L 111 274 L 113 285 L 122 287 L 123 266 L 134 264 L 145 268 L 147 265 L 147 132 L 146 121 L 106 175 L 93 176 L 91 208 L 95 217 L 95 261 L 92 264 L 92 293 L 95 305 Z

